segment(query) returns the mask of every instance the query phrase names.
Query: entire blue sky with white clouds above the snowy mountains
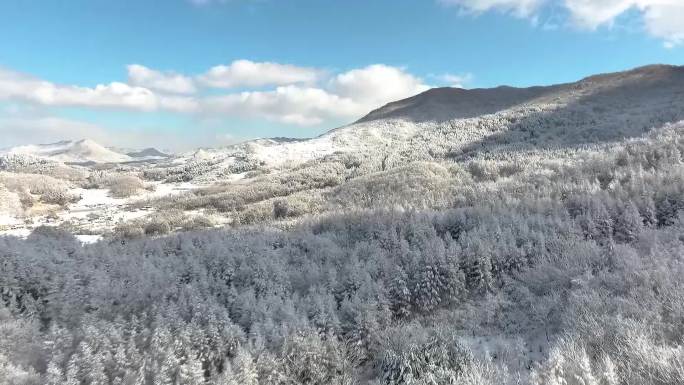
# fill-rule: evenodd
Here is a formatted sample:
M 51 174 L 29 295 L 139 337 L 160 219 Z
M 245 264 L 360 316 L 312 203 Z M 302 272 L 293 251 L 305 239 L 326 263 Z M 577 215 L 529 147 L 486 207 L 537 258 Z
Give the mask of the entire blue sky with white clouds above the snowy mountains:
M 0 147 L 307 137 L 433 86 L 681 65 L 682 3 L 7 0 Z

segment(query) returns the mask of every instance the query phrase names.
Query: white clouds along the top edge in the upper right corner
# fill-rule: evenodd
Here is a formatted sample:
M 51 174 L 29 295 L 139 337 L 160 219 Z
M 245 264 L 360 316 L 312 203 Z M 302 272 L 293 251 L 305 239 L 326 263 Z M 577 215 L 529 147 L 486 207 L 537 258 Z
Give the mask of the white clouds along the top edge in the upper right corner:
M 682 0 L 438 0 L 469 12 L 500 10 L 536 20 L 545 6 L 564 8 L 570 22 L 594 30 L 611 26 L 630 10 L 641 15 L 644 28 L 668 47 L 684 43 L 684 1 Z

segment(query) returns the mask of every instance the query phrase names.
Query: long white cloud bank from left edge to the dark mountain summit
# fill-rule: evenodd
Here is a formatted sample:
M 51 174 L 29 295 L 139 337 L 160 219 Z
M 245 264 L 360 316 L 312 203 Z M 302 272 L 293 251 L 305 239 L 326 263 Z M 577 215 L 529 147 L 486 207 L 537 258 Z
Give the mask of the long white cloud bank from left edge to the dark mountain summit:
M 356 119 L 429 88 L 405 69 L 383 64 L 324 77 L 325 72 L 315 68 L 239 60 L 229 66 L 214 67 L 194 77 L 198 79 L 195 81 L 192 76 L 164 73 L 142 65 L 127 68 L 128 83 L 112 82 L 92 88 L 58 85 L 0 70 L 0 101 L 49 107 L 173 111 L 194 114 L 200 119 L 238 116 L 306 126 Z M 457 79 L 448 80 L 455 83 Z M 201 92 L 200 87 L 225 90 Z M 234 87 L 249 90 L 231 91 Z

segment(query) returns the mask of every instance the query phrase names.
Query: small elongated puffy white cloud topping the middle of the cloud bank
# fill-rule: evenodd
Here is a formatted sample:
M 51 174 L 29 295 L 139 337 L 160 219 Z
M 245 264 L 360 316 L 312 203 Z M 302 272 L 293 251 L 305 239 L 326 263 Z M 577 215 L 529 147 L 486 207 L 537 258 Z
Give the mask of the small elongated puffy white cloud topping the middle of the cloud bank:
M 283 86 L 290 84 L 314 84 L 323 71 L 290 64 L 236 60 L 229 65 L 219 65 L 199 76 L 199 81 L 213 88 Z

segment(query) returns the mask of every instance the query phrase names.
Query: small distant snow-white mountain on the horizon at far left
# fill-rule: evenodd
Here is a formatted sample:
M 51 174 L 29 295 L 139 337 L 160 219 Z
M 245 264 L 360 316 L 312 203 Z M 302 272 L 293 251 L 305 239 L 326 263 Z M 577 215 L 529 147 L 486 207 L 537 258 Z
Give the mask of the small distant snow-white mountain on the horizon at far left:
M 10 148 L 4 153 L 28 155 L 64 163 L 120 163 L 132 160 L 128 155 L 114 152 L 89 139 L 18 146 Z

